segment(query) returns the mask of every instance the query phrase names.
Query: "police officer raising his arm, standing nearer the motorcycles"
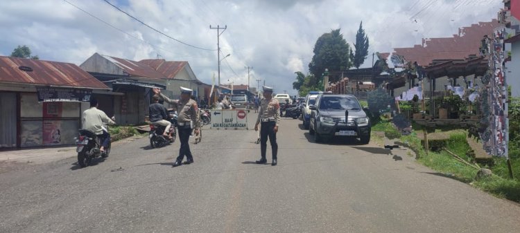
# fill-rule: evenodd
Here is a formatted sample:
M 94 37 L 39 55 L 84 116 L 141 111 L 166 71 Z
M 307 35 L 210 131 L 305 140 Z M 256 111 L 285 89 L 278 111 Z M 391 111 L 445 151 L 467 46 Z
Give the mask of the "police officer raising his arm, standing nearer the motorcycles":
M 193 156 L 189 149 L 189 136 L 191 136 L 193 128 L 195 129 L 195 134 L 199 133 L 198 106 L 195 100 L 191 100 L 193 91 L 181 86 L 180 100 L 171 100 L 166 95 L 163 95 L 159 88 L 153 88 L 153 92 L 160 95 L 165 102 L 176 105 L 179 112 L 177 129 L 179 131 L 180 150 L 179 157 L 173 162 L 173 167 L 182 165 L 184 156 L 187 157 L 186 162 L 184 162 L 185 165 L 193 163 Z

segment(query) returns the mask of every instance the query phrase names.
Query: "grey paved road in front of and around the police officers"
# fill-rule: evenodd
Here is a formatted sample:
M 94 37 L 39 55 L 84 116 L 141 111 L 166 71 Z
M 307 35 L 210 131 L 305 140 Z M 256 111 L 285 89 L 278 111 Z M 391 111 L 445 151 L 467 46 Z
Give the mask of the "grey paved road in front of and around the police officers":
M 279 165 L 254 131 L 204 131 L 195 163 L 146 138 L 0 174 L 0 232 L 520 232 L 520 207 L 355 142 L 315 144 L 282 120 Z M 402 160 L 401 160 L 402 159 Z M 121 167 L 121 169 L 119 169 Z

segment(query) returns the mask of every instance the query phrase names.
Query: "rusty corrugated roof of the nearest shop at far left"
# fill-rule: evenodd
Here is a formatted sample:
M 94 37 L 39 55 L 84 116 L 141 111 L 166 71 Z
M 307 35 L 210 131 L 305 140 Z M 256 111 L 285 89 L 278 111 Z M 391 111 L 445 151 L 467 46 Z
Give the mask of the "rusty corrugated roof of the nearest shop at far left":
M 20 66 L 33 71 L 22 71 Z M 4 56 L 0 56 L 0 82 L 110 89 L 75 64 Z

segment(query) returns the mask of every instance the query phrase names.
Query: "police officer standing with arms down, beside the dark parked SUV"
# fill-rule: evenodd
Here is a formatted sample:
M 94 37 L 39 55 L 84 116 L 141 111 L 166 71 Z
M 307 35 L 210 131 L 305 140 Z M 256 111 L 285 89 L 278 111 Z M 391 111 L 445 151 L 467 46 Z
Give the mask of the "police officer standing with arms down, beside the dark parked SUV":
M 260 102 L 259 113 L 257 124 L 254 125 L 254 130 L 258 131 L 260 128 L 260 148 L 261 156 L 260 160 L 257 160 L 257 164 L 266 164 L 266 151 L 267 151 L 267 138 L 272 149 L 272 166 L 277 165 L 277 153 L 278 144 L 276 142 L 276 133 L 278 132 L 278 126 L 280 124 L 280 104 L 278 100 L 272 97 L 272 88 L 263 86 L 263 99 Z

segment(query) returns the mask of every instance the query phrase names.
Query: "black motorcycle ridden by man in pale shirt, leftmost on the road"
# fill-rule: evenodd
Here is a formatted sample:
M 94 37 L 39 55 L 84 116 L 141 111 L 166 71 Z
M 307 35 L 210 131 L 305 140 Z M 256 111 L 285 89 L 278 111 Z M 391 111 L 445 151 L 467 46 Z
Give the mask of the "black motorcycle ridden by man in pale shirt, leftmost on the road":
M 107 131 L 106 127 L 103 130 Z M 94 158 L 107 158 L 110 154 L 110 147 L 112 142 L 108 142 L 108 147 L 101 152 L 101 144 L 105 140 L 102 136 L 97 136 L 91 131 L 80 129 L 78 138 L 76 139 L 76 152 L 78 152 L 78 165 L 80 167 L 87 167 L 91 164 Z

